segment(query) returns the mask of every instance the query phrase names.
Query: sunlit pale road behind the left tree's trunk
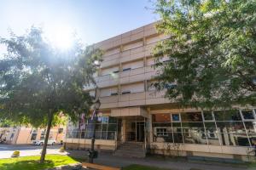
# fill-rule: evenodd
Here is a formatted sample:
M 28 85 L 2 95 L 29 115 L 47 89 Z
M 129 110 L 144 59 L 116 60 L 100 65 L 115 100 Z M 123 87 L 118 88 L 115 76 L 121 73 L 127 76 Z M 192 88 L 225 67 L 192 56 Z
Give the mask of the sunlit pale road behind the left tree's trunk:
M 47 154 L 63 154 L 60 153 L 61 145 L 48 145 Z M 20 156 L 38 156 L 43 146 L 32 144 L 0 144 L 0 159 L 9 158 L 15 150 L 20 150 Z

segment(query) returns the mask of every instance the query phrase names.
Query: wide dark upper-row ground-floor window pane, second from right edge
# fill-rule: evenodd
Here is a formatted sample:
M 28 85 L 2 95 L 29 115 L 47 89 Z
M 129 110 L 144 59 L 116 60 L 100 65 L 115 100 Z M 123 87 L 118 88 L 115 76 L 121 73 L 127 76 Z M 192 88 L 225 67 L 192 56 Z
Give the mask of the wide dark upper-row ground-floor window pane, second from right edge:
M 214 111 L 216 121 L 241 121 L 240 112 L 231 111 Z

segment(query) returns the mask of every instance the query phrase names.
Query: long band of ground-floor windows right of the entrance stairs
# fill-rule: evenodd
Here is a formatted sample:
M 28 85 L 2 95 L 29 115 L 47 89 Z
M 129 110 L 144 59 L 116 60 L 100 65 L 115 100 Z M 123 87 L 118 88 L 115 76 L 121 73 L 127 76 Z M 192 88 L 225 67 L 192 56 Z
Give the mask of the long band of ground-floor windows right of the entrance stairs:
M 174 114 L 175 120 L 172 116 L 153 116 L 154 141 L 230 146 L 249 146 L 256 141 L 253 111 L 185 112 Z

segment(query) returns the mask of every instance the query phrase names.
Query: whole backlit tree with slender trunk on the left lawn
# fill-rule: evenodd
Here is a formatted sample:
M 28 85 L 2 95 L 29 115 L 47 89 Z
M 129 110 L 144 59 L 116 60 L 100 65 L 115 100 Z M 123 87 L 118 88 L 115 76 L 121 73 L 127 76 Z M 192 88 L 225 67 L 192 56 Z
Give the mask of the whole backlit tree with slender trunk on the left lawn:
M 67 51 L 54 48 L 42 29 L 32 27 L 23 36 L 1 38 L 7 54 L 0 60 L 0 114 L 34 127 L 46 126 L 44 161 L 50 127 L 62 112 L 76 121 L 89 112 L 92 98 L 84 85 L 94 82 L 94 61 L 102 51 L 74 42 Z

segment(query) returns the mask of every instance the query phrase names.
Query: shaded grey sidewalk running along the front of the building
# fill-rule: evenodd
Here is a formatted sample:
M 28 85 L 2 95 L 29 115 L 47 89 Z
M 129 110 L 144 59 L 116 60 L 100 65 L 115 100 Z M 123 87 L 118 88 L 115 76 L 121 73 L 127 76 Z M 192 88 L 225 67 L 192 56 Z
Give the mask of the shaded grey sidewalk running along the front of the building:
M 68 155 L 74 157 L 87 157 L 87 152 L 84 150 L 67 150 Z M 95 159 L 95 163 L 111 166 L 111 167 L 126 167 L 131 164 L 140 164 L 149 167 L 162 167 L 177 170 L 253 170 L 247 168 L 243 164 L 228 164 L 222 162 L 211 161 L 187 161 L 185 159 L 175 160 L 172 158 L 163 158 L 156 156 L 148 156 L 146 158 L 127 158 L 113 156 L 112 153 L 101 152 L 99 157 Z M 256 169 L 256 168 L 254 168 Z

